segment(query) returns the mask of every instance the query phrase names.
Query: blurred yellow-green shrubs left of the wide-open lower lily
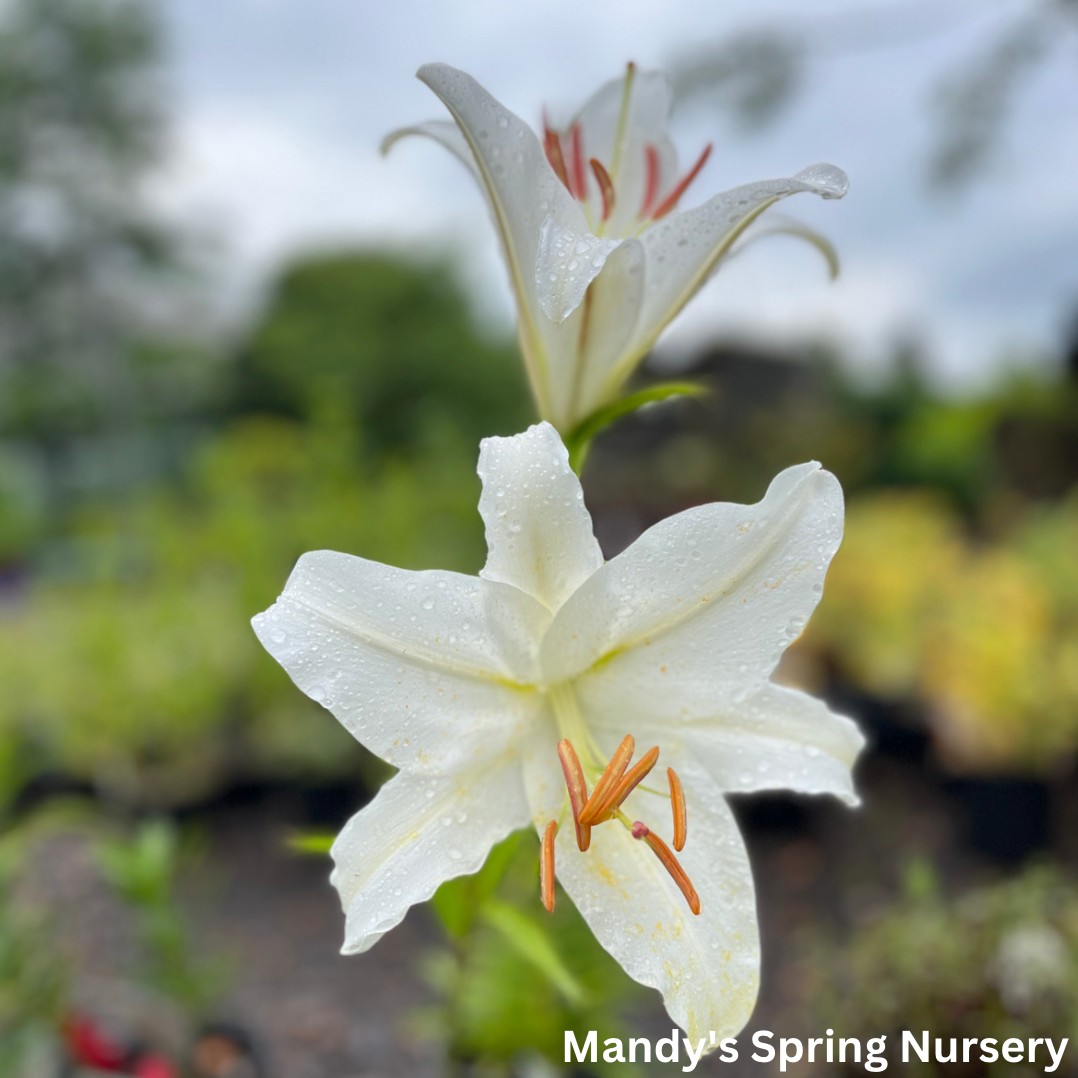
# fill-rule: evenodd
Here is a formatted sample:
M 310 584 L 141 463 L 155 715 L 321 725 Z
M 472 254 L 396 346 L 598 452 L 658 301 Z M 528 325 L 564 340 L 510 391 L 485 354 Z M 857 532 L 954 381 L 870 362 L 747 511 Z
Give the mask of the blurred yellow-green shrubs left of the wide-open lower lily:
M 354 769 L 355 742 L 249 619 L 307 550 L 474 571 L 474 455 L 447 440 L 371 472 L 350 426 L 251 418 L 206 444 L 182 486 L 81 513 L 0 611 L 11 779 L 59 770 L 170 803 L 239 777 Z

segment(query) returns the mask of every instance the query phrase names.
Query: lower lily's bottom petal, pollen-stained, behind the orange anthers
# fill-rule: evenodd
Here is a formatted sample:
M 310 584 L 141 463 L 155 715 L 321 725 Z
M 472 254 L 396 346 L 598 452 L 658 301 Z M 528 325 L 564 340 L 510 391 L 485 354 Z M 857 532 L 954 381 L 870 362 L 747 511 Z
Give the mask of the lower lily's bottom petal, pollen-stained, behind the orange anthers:
M 565 801 L 553 745 L 525 769 L 536 827 L 556 819 Z M 553 758 L 553 763 L 551 759 Z M 677 855 L 700 895 L 693 915 L 651 849 L 617 821 L 592 829 L 580 853 L 571 821 L 558 831 L 555 873 L 595 934 L 634 980 L 658 989 L 671 1018 L 693 1042 L 735 1036 L 752 1013 L 760 980 L 760 942 L 752 873 L 737 825 L 719 788 L 697 765 L 680 773 L 689 841 Z M 671 841 L 666 798 L 633 793 L 631 818 Z

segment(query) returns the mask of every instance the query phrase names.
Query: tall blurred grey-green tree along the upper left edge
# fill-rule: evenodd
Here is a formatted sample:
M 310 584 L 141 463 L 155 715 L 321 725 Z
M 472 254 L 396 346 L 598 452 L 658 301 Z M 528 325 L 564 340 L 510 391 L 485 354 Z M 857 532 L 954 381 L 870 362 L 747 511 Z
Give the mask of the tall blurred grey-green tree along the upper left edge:
M 147 0 L 0 8 L 0 437 L 61 494 L 150 469 L 210 373 L 162 332 L 186 278 L 140 196 L 161 58 Z

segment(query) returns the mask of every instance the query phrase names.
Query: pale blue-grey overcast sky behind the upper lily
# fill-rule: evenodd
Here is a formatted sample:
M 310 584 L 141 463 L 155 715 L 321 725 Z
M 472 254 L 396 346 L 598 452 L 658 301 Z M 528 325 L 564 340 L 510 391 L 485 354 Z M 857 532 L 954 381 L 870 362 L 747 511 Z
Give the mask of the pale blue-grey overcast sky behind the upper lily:
M 1031 0 L 1032 2 L 1032 0 Z M 529 122 L 570 112 L 627 59 L 663 67 L 690 45 L 758 26 L 807 29 L 829 47 L 794 103 L 751 137 L 718 113 L 678 114 L 692 161 L 715 153 L 687 204 L 817 161 L 843 167 L 841 203 L 785 204 L 839 248 L 789 239 L 724 267 L 675 323 L 669 350 L 721 330 L 806 335 L 877 364 L 897 341 L 969 384 L 1006 356 L 1058 353 L 1078 316 L 1078 34 L 1023 85 L 990 175 L 929 192 L 929 102 L 1029 2 L 937 0 L 164 0 L 176 91 L 167 205 L 224 240 L 235 295 L 295 250 L 349 243 L 459 252 L 484 315 L 511 307 L 493 229 L 464 169 L 433 143 L 379 156 L 382 136 L 444 115 L 414 79 L 428 60 L 475 75 Z M 854 39 L 854 40 L 851 40 Z

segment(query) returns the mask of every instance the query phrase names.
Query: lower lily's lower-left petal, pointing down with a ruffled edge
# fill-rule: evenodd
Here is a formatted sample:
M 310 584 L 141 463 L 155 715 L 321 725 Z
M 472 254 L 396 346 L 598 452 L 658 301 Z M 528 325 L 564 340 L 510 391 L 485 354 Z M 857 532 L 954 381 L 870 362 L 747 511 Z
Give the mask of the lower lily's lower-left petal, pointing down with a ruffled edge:
M 395 775 L 337 835 L 330 882 L 344 908 L 343 954 L 373 946 L 454 876 L 529 819 L 515 760 L 454 775 Z

